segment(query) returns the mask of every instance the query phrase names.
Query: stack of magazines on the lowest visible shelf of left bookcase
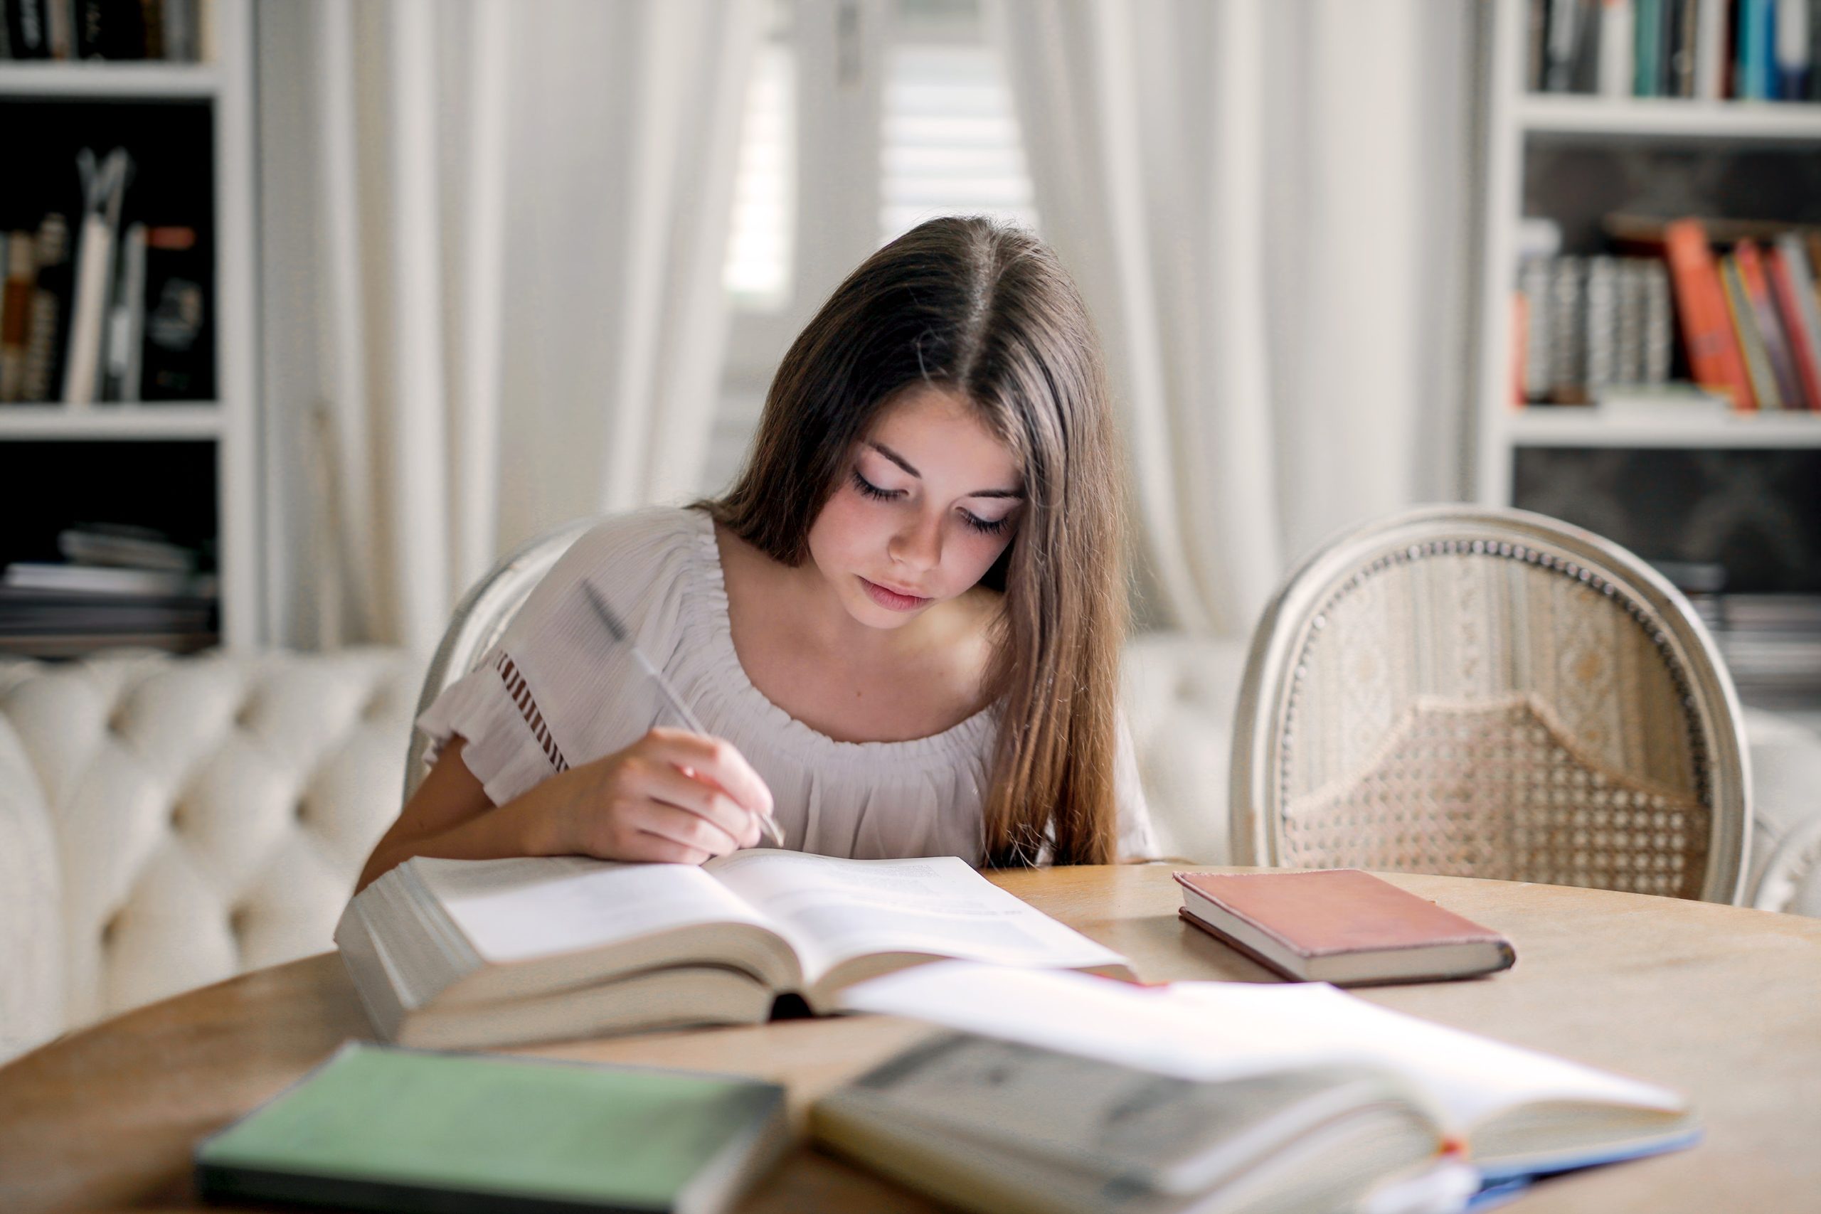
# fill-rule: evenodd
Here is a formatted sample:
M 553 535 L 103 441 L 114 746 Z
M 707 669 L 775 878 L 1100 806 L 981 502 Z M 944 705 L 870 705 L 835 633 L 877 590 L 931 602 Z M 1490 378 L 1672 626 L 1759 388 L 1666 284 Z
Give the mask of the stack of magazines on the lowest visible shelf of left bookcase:
M 15 561 L 0 575 L 0 652 L 80 657 L 109 646 L 188 653 L 217 642 L 219 588 L 202 553 L 124 524 L 58 535 L 62 561 Z

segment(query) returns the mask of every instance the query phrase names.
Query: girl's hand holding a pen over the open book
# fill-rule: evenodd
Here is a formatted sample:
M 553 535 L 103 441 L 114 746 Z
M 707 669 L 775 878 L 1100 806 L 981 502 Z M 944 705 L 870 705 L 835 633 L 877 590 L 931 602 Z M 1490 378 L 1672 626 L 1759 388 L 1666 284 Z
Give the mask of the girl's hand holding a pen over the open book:
M 759 841 L 772 792 L 732 743 L 652 728 L 565 774 L 541 852 L 699 865 Z

